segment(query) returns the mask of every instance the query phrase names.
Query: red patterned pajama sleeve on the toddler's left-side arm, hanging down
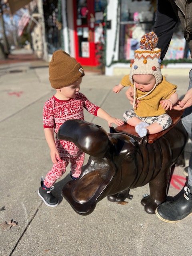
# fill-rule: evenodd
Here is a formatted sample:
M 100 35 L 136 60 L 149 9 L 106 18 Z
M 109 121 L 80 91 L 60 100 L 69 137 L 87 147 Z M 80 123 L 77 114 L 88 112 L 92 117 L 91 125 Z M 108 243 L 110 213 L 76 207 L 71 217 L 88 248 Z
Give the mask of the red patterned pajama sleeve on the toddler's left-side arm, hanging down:
M 43 108 L 43 127 L 44 128 L 54 128 L 54 102 L 52 99 L 47 100 Z

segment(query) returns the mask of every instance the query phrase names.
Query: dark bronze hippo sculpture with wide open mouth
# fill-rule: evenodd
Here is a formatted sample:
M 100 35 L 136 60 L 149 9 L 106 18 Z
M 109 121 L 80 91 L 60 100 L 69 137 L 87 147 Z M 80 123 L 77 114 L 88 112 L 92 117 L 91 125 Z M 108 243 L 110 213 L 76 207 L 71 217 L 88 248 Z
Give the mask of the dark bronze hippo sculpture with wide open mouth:
M 62 189 L 78 214 L 90 214 L 106 196 L 122 202 L 131 188 L 147 183 L 150 195 L 141 204 L 147 213 L 154 214 L 166 200 L 171 166 L 182 154 L 188 136 L 181 121 L 148 143 L 148 136 L 140 138 L 114 128 L 107 133 L 101 126 L 71 119 L 62 124 L 57 138 L 73 142 L 90 155 L 80 178 L 67 182 Z

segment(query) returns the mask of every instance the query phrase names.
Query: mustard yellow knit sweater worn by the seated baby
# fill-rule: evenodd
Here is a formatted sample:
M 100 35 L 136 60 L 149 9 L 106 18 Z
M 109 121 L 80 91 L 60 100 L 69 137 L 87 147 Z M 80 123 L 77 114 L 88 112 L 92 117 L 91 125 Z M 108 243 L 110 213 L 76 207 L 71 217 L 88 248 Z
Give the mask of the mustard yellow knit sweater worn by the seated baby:
M 126 75 L 121 80 L 122 86 L 132 86 L 134 85 L 129 80 L 129 75 Z M 139 99 L 140 103 L 138 108 L 135 109 L 135 113 L 141 117 L 148 116 L 160 116 L 166 113 L 160 104 L 161 100 L 168 99 L 174 92 L 176 92 L 177 86 L 167 82 L 163 76 L 163 80 L 156 88 L 148 94 L 146 97 Z M 147 94 L 147 92 L 142 92 L 136 89 L 136 98 Z

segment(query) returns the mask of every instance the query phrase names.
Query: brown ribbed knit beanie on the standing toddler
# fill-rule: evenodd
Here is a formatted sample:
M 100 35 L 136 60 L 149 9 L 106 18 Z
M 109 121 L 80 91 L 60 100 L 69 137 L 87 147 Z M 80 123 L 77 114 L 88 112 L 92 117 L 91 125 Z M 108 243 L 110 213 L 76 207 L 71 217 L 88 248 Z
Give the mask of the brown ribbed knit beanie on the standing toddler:
M 84 75 L 81 64 L 68 53 L 62 50 L 53 53 L 49 62 L 49 80 L 53 88 L 68 86 Z

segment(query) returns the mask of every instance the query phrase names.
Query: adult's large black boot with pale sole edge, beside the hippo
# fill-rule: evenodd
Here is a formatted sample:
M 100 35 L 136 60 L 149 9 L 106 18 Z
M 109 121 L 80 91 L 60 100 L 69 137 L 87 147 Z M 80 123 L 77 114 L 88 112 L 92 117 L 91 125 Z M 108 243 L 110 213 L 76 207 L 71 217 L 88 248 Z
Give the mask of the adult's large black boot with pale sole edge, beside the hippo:
M 156 215 L 165 222 L 176 222 L 192 214 L 192 194 L 186 186 L 177 199 L 164 202 L 156 208 Z

